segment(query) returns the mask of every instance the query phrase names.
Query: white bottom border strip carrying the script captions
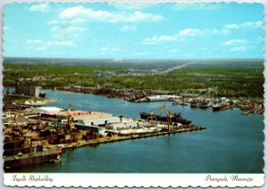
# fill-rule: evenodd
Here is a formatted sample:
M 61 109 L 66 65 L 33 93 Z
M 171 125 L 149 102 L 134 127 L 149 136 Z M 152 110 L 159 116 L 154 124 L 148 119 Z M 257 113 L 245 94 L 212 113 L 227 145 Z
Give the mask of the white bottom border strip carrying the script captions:
M 253 187 L 263 186 L 263 184 L 264 174 L 4 174 L 5 186 Z

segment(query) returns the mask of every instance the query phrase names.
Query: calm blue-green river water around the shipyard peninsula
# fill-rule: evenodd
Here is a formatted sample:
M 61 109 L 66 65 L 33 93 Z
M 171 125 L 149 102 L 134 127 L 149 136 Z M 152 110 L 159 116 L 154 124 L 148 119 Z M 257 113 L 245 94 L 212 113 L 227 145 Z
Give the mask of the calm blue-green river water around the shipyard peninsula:
M 51 106 L 110 112 L 139 118 L 143 110 L 162 103 L 128 103 L 99 95 L 46 91 Z M 61 163 L 47 163 L 21 172 L 157 172 L 157 173 L 263 173 L 263 115 L 241 115 L 238 109 L 212 112 L 173 106 L 173 112 L 206 130 L 131 140 L 67 150 Z

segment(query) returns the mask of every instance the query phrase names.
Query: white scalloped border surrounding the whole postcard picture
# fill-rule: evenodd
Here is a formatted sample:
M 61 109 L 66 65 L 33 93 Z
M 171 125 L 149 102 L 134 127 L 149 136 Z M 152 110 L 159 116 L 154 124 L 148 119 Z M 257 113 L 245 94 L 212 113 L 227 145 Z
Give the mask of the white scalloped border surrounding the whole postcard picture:
M 142 2 L 141 0 L 134 0 L 136 2 Z M 143 0 L 146 1 L 146 0 Z M 14 1 L 14 0 L 1 0 L 0 4 L 1 7 L 3 8 L 4 4 L 6 3 L 15 3 L 19 1 Z M 73 1 L 73 0 L 20 0 L 20 3 L 22 2 L 28 2 L 28 3 L 33 3 L 33 2 L 54 2 L 54 3 L 64 3 L 64 2 L 110 2 L 109 0 L 85 0 L 85 1 Z M 126 0 L 116 0 L 111 2 L 126 2 Z M 152 2 L 152 1 L 147 1 L 147 2 Z M 156 0 L 153 2 L 185 2 L 185 1 L 179 1 L 179 0 L 174 0 L 174 1 L 163 1 L 163 0 Z M 206 2 L 206 3 L 211 3 L 211 2 L 247 2 L 247 3 L 262 3 L 264 4 L 264 33 L 265 33 L 265 39 L 266 39 L 266 6 L 267 2 L 265 0 L 206 0 L 206 1 L 201 1 L 201 0 L 189 0 L 188 2 Z M 1 13 L 3 10 L 1 10 Z M 1 14 L 2 17 L 0 18 L 0 21 L 3 23 L 3 14 Z M 2 30 L 2 25 L 1 25 L 1 30 Z M 3 34 L 1 32 L 1 37 L 3 38 Z M 264 40 L 265 42 L 265 40 Z M 2 44 L 3 41 L 0 40 L 0 44 Z M 266 45 L 264 44 L 264 47 L 266 48 Z M 0 60 L 3 62 L 3 52 L 0 53 Z M 264 58 L 266 57 L 266 51 L 264 51 Z M 265 61 L 266 62 L 266 61 Z M 264 62 L 264 64 L 266 64 Z M 1 70 L 3 70 L 2 65 L 0 66 Z M 264 70 L 264 74 L 267 73 L 267 70 Z M 2 80 L 2 72 L 1 72 L 1 80 Z M 266 77 L 266 75 L 264 75 Z M 3 84 L 1 82 L 1 84 Z M 3 90 L 3 85 L 0 85 L 1 89 Z M 266 84 L 264 84 L 264 87 L 266 87 Z M 3 97 L 3 96 L 2 96 Z M 264 98 L 266 98 L 266 95 L 264 95 Z M 1 105 L 3 103 L 1 102 Z M 266 106 L 266 104 L 265 104 Z M 3 115 L 3 112 L 1 111 L 1 115 Z M 264 113 L 265 115 L 265 113 Z M 265 120 L 264 120 L 265 121 Z M 2 121 L 0 121 L 2 123 Z M 264 122 L 265 123 L 265 122 Z M 266 129 L 264 128 L 264 134 Z M 3 136 L 1 136 L 1 151 L 3 153 Z M 265 141 L 263 142 L 265 145 Z M 265 154 L 265 147 L 264 147 L 264 154 Z M 264 161 L 265 161 L 265 155 L 264 155 Z M 1 159 L 0 163 L 3 164 L 3 159 Z M 266 171 L 266 167 L 264 166 L 264 172 Z M 260 188 L 257 189 L 265 189 L 264 187 L 264 179 L 266 178 L 264 174 L 73 174 L 73 173 L 30 173 L 30 174 L 25 174 L 25 173 L 4 173 L 4 169 L 1 169 L 1 174 L 3 174 L 3 177 L 1 178 L 1 189 L 6 189 L 10 188 L 7 186 L 15 186 L 12 189 L 20 189 L 20 186 L 37 186 L 37 187 L 177 187 L 177 186 L 182 186 L 182 187 L 252 187 L 252 186 L 258 186 Z M 25 181 L 15 181 L 13 180 L 13 175 L 17 175 L 18 178 L 23 178 L 25 176 L 26 180 Z M 48 176 L 47 180 L 48 181 L 35 181 L 31 180 L 29 181 L 30 176 L 34 175 L 35 178 L 45 178 L 45 176 Z M 215 181 L 207 181 L 206 178 L 207 176 L 210 175 L 212 178 L 228 178 L 228 182 L 224 183 L 223 181 L 220 181 L 219 183 Z M 231 179 L 231 176 L 238 175 L 239 178 L 254 178 L 253 181 L 247 183 L 247 181 L 243 182 L 233 182 L 229 179 Z M 49 182 L 49 178 L 53 178 L 53 183 Z M 164 180 L 163 180 L 164 179 Z M 154 185 L 151 186 L 151 183 Z M 101 184 L 101 185 L 100 185 Z M 126 185 L 125 185 L 126 184 Z M 136 186 L 136 184 L 138 184 Z M 39 188 L 43 189 L 43 188 Z M 227 188 L 226 188 L 227 189 Z

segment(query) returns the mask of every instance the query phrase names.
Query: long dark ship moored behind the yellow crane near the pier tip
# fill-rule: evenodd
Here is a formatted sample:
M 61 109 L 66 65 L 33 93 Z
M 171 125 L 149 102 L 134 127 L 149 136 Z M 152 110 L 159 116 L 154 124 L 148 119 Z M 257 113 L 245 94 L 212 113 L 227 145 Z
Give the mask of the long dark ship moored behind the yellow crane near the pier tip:
M 152 119 L 152 120 L 167 121 L 166 116 L 156 115 L 154 113 L 141 112 L 140 116 L 141 119 L 144 120 Z M 189 125 L 191 123 L 190 120 L 183 119 L 181 113 L 174 113 L 174 117 L 172 117 L 172 122 L 182 123 L 182 125 Z

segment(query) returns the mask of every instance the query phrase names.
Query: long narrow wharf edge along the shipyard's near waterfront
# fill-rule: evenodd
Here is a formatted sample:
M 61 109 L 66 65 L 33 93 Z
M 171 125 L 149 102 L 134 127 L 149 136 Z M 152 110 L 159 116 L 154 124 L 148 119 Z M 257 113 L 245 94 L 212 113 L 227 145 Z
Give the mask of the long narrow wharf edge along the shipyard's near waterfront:
M 85 145 L 100 145 L 100 144 L 108 144 L 108 143 L 115 143 L 125 140 L 134 140 L 139 138 L 146 138 L 146 137 L 152 137 L 152 136 L 166 136 L 166 135 L 174 135 L 176 133 L 185 133 L 185 132 L 191 132 L 196 130 L 204 130 L 206 128 L 194 126 L 192 128 L 179 128 L 174 129 L 171 131 L 158 131 L 153 133 L 147 133 L 147 134 L 138 134 L 138 135 L 130 135 L 130 136 L 114 136 L 114 137 L 101 137 L 99 139 L 93 139 L 89 141 L 84 142 L 77 142 L 77 143 L 71 143 L 69 145 L 62 145 L 62 149 L 69 149 L 69 148 L 78 148 Z

